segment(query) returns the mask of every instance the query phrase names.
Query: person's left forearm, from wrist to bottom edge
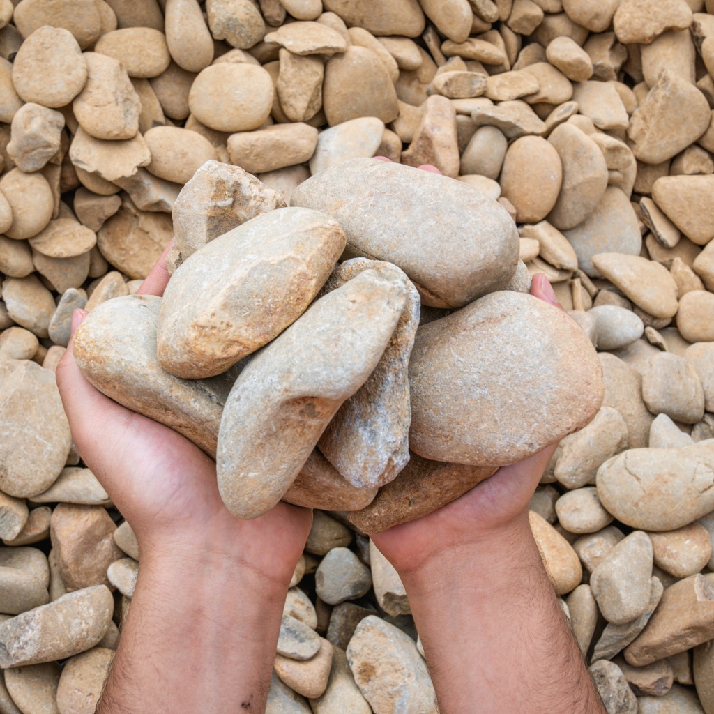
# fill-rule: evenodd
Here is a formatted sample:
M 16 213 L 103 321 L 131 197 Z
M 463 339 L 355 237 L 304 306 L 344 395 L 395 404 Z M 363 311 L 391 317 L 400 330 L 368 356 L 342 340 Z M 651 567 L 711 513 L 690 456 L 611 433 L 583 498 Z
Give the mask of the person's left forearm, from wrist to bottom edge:
M 262 713 L 287 589 L 221 556 L 142 551 L 99 714 Z

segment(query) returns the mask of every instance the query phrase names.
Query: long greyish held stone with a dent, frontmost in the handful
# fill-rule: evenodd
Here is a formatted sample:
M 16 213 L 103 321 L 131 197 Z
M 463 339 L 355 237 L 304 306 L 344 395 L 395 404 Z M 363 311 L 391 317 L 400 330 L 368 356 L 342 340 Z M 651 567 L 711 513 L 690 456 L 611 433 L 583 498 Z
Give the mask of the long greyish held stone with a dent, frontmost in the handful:
M 231 513 L 256 518 L 280 501 L 343 401 L 377 366 L 406 299 L 403 280 L 366 270 L 253 357 L 218 433 L 218 488 Z

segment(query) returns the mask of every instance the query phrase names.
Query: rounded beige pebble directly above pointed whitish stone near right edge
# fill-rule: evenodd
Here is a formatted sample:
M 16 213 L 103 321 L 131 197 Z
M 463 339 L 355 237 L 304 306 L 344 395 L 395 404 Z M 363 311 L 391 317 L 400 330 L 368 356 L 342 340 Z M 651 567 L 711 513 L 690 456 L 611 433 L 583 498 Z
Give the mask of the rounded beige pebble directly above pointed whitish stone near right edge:
M 662 352 L 650 359 L 642 378 L 642 395 L 653 414 L 695 424 L 704 416 L 704 391 L 698 373 L 685 358 Z

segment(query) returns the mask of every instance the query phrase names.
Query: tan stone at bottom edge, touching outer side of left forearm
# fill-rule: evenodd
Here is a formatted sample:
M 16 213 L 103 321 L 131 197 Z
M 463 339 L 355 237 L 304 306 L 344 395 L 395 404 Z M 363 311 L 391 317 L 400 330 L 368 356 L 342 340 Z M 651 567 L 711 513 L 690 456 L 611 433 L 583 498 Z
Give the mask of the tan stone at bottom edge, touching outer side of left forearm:
M 114 650 L 94 647 L 64 663 L 57 687 L 61 714 L 94 714 L 113 659 Z

